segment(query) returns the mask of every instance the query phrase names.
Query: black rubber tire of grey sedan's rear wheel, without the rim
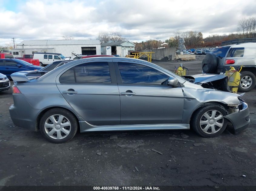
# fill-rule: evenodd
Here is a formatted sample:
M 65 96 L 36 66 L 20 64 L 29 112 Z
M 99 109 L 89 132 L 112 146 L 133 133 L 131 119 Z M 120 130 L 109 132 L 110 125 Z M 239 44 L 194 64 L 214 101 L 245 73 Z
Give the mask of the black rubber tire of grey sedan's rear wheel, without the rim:
M 45 130 L 45 122 L 48 119 L 48 117 L 52 116 L 52 115 L 62 115 L 64 116 L 66 119 L 69 120 L 70 124 L 71 124 L 71 129 L 69 134 L 62 139 L 54 139 L 51 138 L 47 135 L 46 130 Z M 78 121 L 76 119 L 76 117 L 73 115 L 73 113 L 71 113 L 68 110 L 62 109 L 62 108 L 54 108 L 51 110 L 48 110 L 40 119 L 39 122 L 39 128 L 40 128 L 40 132 L 43 135 L 44 138 L 46 138 L 49 142 L 52 143 L 64 143 L 69 141 L 71 138 L 73 138 L 78 130 Z

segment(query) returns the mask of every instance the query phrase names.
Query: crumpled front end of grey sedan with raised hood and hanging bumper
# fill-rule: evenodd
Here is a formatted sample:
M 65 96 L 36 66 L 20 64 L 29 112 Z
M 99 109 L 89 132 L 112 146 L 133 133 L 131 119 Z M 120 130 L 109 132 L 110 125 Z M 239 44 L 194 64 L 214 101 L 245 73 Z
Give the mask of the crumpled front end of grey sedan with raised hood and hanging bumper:
M 226 110 L 227 115 L 223 117 L 228 120 L 228 127 L 232 128 L 232 132 L 240 132 L 250 125 L 248 104 L 240 98 L 243 94 L 234 94 L 228 90 L 227 76 L 200 74 L 183 77 L 192 83 L 184 83 L 185 110 L 191 110 L 194 104 L 197 105 L 194 110 L 198 107 L 218 105 Z

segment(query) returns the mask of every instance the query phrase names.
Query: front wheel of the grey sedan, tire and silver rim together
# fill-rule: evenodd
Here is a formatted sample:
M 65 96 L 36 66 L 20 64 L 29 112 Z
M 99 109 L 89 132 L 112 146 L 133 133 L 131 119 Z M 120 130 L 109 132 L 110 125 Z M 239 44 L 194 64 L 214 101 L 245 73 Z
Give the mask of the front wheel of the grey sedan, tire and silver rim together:
M 227 113 L 218 106 L 199 108 L 191 119 L 191 126 L 202 137 L 216 137 L 227 127 Z

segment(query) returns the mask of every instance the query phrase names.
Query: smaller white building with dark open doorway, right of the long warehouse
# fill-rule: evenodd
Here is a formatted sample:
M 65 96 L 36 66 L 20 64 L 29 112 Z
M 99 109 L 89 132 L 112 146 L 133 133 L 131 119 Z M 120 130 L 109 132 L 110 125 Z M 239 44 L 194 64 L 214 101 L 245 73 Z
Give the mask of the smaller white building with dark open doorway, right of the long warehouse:
M 119 55 L 121 57 L 125 57 L 128 55 L 128 51 L 134 50 L 135 44 L 131 43 L 130 41 L 101 44 L 101 54 L 106 55 Z

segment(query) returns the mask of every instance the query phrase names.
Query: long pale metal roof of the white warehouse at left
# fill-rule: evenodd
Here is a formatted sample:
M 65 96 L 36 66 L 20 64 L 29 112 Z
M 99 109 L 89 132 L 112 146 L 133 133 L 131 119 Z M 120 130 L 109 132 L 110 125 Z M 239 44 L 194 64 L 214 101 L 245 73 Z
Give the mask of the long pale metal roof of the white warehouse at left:
M 99 40 L 24 40 L 18 45 L 80 45 L 101 44 Z

